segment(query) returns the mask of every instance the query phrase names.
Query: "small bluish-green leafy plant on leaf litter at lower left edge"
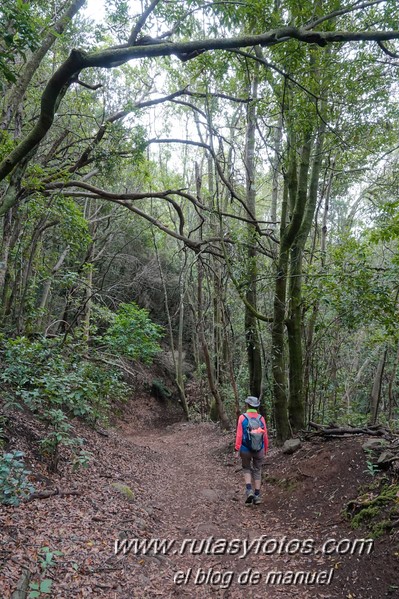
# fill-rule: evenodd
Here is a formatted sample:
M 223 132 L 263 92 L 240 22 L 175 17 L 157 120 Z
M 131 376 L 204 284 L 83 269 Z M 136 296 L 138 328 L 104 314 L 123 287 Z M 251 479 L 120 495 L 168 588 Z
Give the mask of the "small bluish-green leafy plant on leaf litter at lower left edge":
M 0 458 L 0 503 L 3 505 L 19 505 L 35 490 L 28 479 L 30 471 L 21 459 L 24 455 L 22 451 L 13 451 Z

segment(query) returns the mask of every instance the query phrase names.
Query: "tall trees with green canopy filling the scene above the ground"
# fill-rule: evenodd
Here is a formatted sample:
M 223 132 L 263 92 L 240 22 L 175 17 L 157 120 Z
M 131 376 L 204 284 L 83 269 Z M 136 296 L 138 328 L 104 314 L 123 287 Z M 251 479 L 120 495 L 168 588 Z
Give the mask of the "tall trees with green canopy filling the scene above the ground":
M 184 356 L 279 441 L 393 418 L 395 6 L 141 4 L 0 9 L 4 332 L 126 371 L 161 325 L 187 417 Z

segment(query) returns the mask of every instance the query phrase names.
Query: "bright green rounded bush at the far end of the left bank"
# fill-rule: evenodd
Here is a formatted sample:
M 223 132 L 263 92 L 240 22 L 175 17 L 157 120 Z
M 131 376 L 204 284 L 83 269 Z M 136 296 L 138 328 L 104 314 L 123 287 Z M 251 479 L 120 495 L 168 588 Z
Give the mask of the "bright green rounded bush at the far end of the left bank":
M 114 353 L 150 364 L 161 351 L 162 330 L 149 318 L 148 310 L 134 302 L 121 304 L 102 341 Z

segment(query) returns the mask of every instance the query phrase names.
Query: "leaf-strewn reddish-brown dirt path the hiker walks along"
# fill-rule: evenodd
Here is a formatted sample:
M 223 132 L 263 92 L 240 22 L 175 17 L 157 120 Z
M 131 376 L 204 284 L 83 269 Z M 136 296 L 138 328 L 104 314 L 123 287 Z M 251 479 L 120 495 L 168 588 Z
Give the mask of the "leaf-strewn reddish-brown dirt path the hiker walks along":
M 335 596 L 323 584 L 315 589 L 303 584 L 276 585 L 268 579 L 271 571 L 323 570 L 332 577 L 333 565 L 326 558 L 315 561 L 315 555 L 295 552 L 295 543 L 291 544 L 293 553 L 287 552 L 290 540 L 309 539 L 312 531 L 306 521 L 294 528 L 273 514 L 266 484 L 261 505 L 244 505 L 240 462 L 232 451 L 233 433 L 221 434 L 213 424 L 179 423 L 162 433 L 140 436 L 125 431 L 125 435 L 136 448 L 152 452 L 140 497 L 157 513 L 152 538 L 173 541 L 167 556 L 152 557 L 155 563 L 158 560 L 159 570 L 150 577 L 149 596 L 157 587 L 164 597 Z M 287 541 L 280 551 L 271 554 L 274 539 L 281 542 L 284 537 Z M 251 568 L 252 584 L 243 574 Z M 327 579 L 320 576 L 322 581 Z

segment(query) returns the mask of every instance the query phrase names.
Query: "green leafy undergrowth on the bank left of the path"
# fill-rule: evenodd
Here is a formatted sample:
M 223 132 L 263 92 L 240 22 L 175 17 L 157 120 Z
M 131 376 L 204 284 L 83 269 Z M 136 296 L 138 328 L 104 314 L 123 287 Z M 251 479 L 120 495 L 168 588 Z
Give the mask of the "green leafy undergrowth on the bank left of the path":
M 116 313 L 108 310 L 107 320 L 105 334 L 94 333 L 90 347 L 78 336 L 69 343 L 64 337 L 0 336 L 0 447 L 4 451 L 9 449 L 4 422 L 20 409 L 33 415 L 44 430 L 36 448 L 50 472 L 57 471 L 66 447 L 74 467 L 88 464 L 90 455 L 74 432 L 73 419 L 106 426 L 114 407 L 131 393 L 117 361 L 125 357 L 149 364 L 160 351 L 161 327 L 136 304 L 122 304 Z M 18 502 L 28 490 L 22 455 L 14 454 L 18 459 L 13 460 L 12 455 L 8 451 L 0 457 L 2 480 L 12 481 L 0 503 Z

